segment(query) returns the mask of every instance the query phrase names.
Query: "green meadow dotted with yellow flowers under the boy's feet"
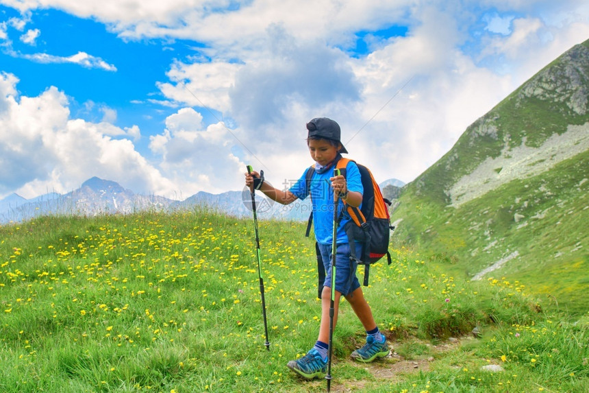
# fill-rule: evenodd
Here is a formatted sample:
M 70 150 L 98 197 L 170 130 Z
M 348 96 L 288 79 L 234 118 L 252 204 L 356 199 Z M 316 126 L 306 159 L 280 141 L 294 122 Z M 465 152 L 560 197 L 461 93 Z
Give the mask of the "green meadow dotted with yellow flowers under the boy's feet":
M 324 391 L 325 381 L 301 382 L 286 368 L 316 340 L 321 315 L 314 244 L 304 230 L 305 223 L 260 221 L 267 351 L 251 219 L 192 211 L 0 227 L 0 390 Z M 364 331 L 344 304 L 334 390 L 586 388 L 588 318 L 569 324 L 542 312 L 521 283 L 473 283 L 407 248 L 391 251 L 394 262 L 373 267 L 365 294 L 402 357 L 353 363 Z M 480 339 L 434 350 L 475 326 Z M 429 370 L 379 377 L 412 359 Z M 505 372 L 479 369 L 490 363 Z

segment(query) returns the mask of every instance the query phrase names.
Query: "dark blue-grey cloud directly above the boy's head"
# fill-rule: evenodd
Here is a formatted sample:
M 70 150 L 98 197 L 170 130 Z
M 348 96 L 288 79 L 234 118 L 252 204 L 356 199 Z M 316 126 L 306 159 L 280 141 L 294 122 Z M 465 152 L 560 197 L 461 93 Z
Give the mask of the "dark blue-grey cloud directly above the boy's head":
M 361 86 L 348 57 L 321 41 L 297 41 L 275 27 L 268 29 L 267 46 L 260 53 L 264 61 L 241 67 L 229 91 L 231 116 L 256 139 L 290 145 L 281 125 L 293 106 L 301 106 L 305 117 L 316 117 L 318 110 L 353 106 L 360 98 Z

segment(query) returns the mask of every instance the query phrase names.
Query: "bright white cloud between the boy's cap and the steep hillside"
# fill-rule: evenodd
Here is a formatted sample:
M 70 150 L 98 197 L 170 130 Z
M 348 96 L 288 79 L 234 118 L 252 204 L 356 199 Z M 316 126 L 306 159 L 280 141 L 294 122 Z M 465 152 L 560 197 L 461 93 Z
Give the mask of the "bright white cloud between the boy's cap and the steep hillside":
M 478 69 L 457 49 L 449 14 L 430 8 L 421 18 L 410 36 L 353 60 L 362 102 L 338 114 L 350 156 L 381 180 L 421 174 L 510 88 L 510 78 Z

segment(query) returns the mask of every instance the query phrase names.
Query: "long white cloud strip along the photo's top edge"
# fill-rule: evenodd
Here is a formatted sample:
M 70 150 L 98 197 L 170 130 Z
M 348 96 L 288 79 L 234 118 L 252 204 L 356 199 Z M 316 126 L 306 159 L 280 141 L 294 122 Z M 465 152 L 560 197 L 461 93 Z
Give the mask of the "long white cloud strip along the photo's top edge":
M 327 37 L 340 41 L 341 32 L 358 27 L 378 28 L 405 14 L 414 1 L 379 0 L 328 2 L 268 0 L 216 2 L 168 0 L 5 0 L 18 10 L 59 8 L 82 18 L 94 17 L 123 38 L 169 36 L 227 45 L 255 43 L 269 25 L 282 25 L 303 39 Z M 238 5 L 238 8 L 236 8 Z

